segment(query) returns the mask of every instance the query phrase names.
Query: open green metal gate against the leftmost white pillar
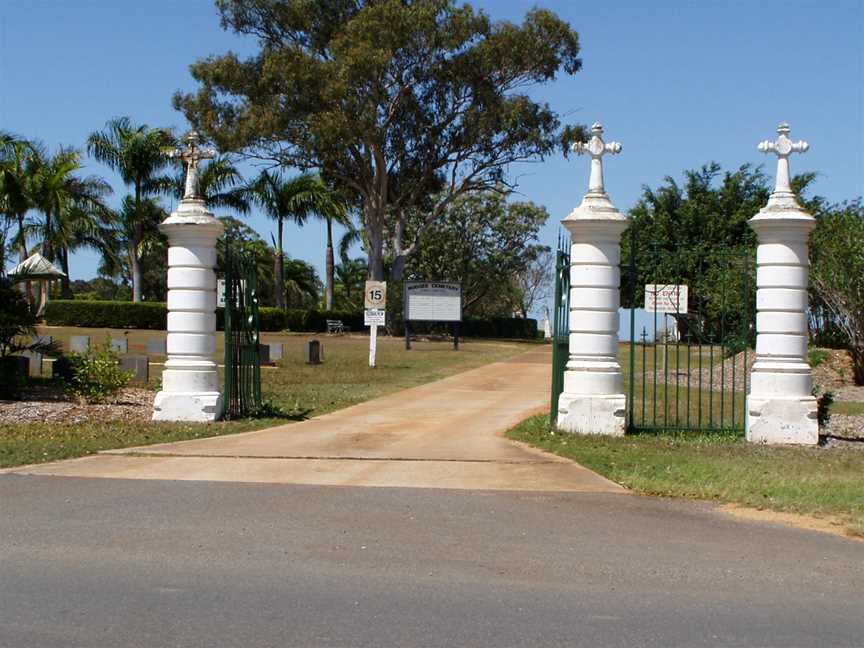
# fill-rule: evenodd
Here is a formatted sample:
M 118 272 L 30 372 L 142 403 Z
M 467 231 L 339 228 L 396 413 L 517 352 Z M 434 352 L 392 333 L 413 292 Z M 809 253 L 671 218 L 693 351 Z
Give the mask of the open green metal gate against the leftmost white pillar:
M 261 408 L 258 276 L 254 262 L 227 242 L 225 273 L 225 418 Z

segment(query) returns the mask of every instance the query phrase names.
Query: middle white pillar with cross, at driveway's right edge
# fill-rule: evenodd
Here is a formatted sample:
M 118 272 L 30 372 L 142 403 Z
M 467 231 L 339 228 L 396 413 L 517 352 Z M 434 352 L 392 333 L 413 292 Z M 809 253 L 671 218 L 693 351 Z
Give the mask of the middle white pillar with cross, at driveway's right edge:
M 580 434 L 621 436 L 626 430 L 624 377 L 618 364 L 618 307 L 621 234 L 627 219 L 612 205 L 603 185 L 603 155 L 621 145 L 603 141 L 594 124 L 587 144 L 591 156 L 588 193 L 562 220 L 570 232 L 570 359 L 558 400 L 558 427 Z

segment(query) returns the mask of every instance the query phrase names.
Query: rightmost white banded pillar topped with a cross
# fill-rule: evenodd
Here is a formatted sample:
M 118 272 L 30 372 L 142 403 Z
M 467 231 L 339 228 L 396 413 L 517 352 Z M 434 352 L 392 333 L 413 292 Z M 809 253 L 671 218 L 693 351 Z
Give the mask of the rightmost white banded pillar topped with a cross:
M 756 361 L 747 396 L 747 440 L 813 445 L 819 441 L 813 379 L 807 363 L 808 235 L 816 221 L 789 184 L 789 156 L 807 142 L 792 142 L 788 124 L 777 140 L 759 144 L 777 155 L 777 180 L 768 204 L 750 219 L 756 250 Z

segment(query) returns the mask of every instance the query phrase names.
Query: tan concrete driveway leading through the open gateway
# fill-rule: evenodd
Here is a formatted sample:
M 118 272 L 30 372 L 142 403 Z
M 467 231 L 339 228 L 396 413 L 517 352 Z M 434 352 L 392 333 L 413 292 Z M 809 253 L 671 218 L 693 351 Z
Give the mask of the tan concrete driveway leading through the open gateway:
M 9 472 L 66 477 L 619 492 L 566 459 L 505 439 L 549 407 L 546 347 L 267 430 L 112 450 Z

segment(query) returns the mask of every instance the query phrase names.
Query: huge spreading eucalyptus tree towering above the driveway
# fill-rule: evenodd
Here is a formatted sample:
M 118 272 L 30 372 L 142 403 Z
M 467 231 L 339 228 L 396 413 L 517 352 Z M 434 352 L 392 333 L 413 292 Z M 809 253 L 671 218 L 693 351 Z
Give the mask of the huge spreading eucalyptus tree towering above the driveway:
M 393 279 L 457 197 L 583 135 L 527 91 L 581 67 L 554 13 L 493 22 L 455 0 L 217 0 L 260 51 L 192 66 L 175 106 L 223 150 L 318 169 L 360 206 L 370 274 Z M 566 150 L 566 146 L 565 146 Z M 408 228 L 413 213 L 425 216 Z

